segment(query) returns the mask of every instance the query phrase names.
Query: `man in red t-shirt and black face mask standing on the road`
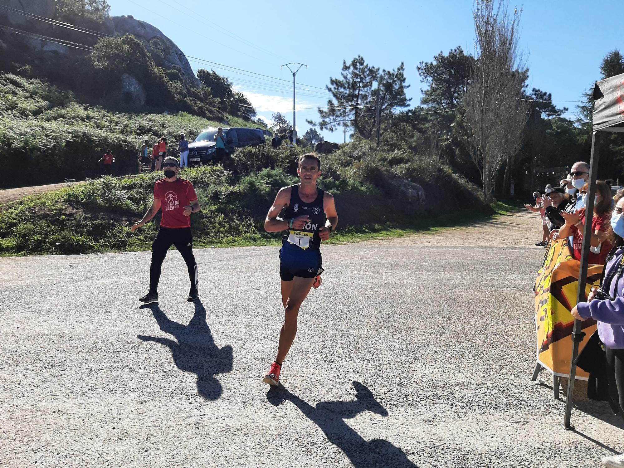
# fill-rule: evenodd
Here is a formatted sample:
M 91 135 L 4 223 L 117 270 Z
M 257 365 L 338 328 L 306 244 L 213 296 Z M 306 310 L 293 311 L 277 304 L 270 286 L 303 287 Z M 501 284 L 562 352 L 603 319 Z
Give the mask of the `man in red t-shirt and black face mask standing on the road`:
M 191 302 L 199 299 L 199 293 L 197 291 L 197 262 L 193 255 L 190 214 L 199 212 L 202 207 L 197 200 L 193 184 L 178 177 L 180 163 L 177 158 L 165 158 L 162 166 L 165 170 L 165 178 L 154 184 L 154 202 L 142 220 L 134 223 L 131 228 L 134 232 L 138 227 L 154 218 L 158 210 L 162 210 L 160 230 L 152 244 L 150 290 L 145 296 L 139 298 L 139 301 L 145 304 L 158 302 L 158 280 L 160 280 L 162 262 L 165 260 L 169 247 L 175 245 L 187 263 L 188 278 L 191 282 L 187 300 Z

